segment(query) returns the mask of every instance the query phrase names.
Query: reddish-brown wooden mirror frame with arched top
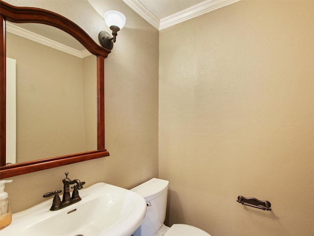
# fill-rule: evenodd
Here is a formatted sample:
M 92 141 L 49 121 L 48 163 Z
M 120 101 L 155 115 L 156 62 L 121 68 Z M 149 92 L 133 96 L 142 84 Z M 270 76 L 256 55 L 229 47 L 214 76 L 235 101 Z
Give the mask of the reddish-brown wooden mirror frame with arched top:
M 69 19 L 40 8 L 17 7 L 0 1 L 0 178 L 68 165 L 109 156 L 105 149 L 104 59 L 109 50 L 99 46 L 78 25 Z M 6 21 L 39 23 L 61 29 L 76 38 L 91 54 L 97 56 L 97 150 L 56 156 L 5 166 L 6 155 Z

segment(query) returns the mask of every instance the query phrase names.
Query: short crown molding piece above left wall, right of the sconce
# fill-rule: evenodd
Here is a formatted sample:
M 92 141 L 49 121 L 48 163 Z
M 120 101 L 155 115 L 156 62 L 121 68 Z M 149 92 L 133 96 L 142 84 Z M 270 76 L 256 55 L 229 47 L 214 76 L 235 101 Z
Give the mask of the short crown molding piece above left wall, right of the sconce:
M 133 11 L 139 14 L 149 24 L 159 30 L 159 18 L 143 5 L 139 0 L 123 0 Z

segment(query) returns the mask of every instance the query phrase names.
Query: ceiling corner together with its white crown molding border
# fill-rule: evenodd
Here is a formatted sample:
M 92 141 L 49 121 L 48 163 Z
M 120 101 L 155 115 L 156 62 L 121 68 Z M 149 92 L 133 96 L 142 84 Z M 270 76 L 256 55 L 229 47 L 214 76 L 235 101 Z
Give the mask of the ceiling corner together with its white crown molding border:
M 156 29 L 165 29 L 183 21 L 232 4 L 239 0 L 123 0 Z

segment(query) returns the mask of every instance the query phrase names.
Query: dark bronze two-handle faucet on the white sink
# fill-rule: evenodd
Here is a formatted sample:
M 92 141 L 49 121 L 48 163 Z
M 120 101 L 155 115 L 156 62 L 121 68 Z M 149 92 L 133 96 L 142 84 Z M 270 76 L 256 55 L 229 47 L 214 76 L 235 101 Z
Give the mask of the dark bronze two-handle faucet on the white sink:
M 56 190 L 53 192 L 45 193 L 44 198 L 48 198 L 54 195 L 53 201 L 52 201 L 52 206 L 50 207 L 50 210 L 59 210 L 64 207 L 68 207 L 74 203 L 77 203 L 78 201 L 81 200 L 81 198 L 78 195 L 78 190 L 83 188 L 83 185 L 85 182 L 81 182 L 78 179 L 71 180 L 68 178 L 68 172 L 64 173 L 65 178 L 62 179 L 63 182 L 63 197 L 62 197 L 62 202 L 59 197 L 59 193 L 61 193 L 61 190 Z M 72 197 L 70 196 L 70 185 L 75 184 L 72 192 Z

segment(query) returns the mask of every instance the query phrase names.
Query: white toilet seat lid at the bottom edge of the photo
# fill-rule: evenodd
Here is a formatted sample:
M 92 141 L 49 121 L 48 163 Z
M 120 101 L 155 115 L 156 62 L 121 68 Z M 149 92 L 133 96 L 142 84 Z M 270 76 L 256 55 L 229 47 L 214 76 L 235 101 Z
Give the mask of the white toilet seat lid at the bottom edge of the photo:
M 205 231 L 191 225 L 174 224 L 164 236 L 210 236 Z

